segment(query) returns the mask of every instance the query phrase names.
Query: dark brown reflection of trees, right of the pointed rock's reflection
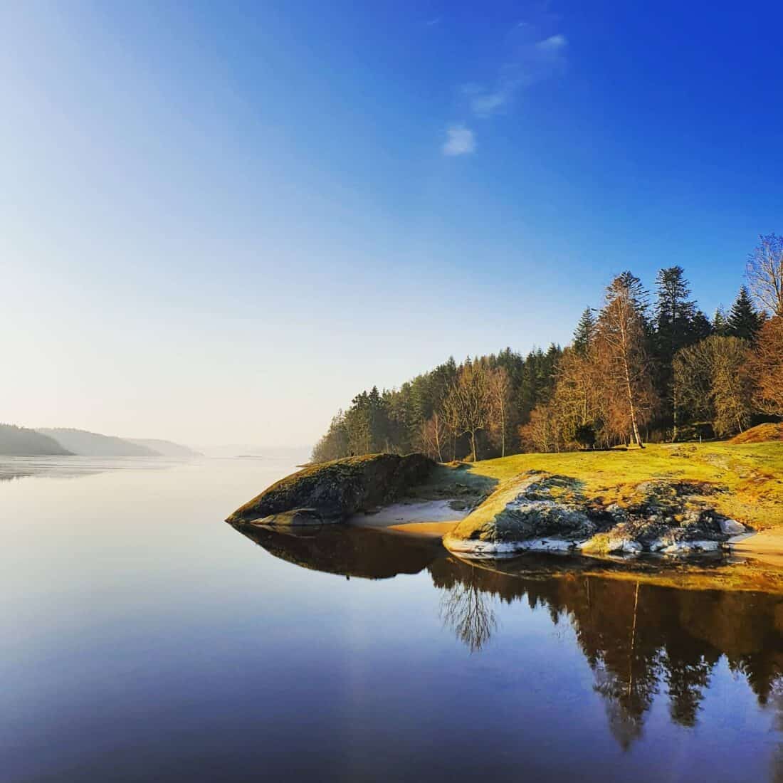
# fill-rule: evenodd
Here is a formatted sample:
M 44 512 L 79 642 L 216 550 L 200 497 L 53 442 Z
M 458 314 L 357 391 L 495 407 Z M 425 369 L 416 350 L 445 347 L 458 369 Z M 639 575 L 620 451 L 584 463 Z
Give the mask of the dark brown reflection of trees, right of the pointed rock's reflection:
M 695 726 L 722 656 L 734 673 L 744 675 L 760 704 L 774 702 L 783 715 L 783 595 L 677 590 L 569 570 L 542 576 L 514 572 L 513 564 L 493 568 L 498 570 L 454 559 L 428 567 L 444 591 L 447 624 L 478 651 L 497 626 L 488 597 L 525 601 L 553 622 L 567 617 L 623 749 L 643 733 L 659 693 L 666 695 L 674 723 Z

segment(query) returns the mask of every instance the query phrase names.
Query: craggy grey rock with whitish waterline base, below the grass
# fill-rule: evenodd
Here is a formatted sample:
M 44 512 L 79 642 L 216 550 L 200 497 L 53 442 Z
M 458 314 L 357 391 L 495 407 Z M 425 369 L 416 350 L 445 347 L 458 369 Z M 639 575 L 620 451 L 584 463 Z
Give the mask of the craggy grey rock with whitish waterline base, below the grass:
M 546 473 L 519 476 L 482 503 L 443 543 L 470 557 L 525 550 L 666 555 L 720 552 L 745 526 L 714 511 L 713 485 L 645 482 L 621 506 L 588 498 L 579 482 Z

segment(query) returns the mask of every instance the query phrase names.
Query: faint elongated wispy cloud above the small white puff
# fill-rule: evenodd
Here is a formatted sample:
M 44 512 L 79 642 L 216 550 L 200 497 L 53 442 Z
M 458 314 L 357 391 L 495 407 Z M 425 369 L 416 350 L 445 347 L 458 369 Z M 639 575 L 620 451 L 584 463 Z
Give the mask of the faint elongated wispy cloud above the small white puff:
M 511 31 L 507 48 L 509 53 L 493 85 L 463 85 L 462 92 L 476 117 L 491 117 L 507 110 L 519 92 L 561 74 L 567 64 L 565 35 L 544 37 L 530 23 L 521 22 Z

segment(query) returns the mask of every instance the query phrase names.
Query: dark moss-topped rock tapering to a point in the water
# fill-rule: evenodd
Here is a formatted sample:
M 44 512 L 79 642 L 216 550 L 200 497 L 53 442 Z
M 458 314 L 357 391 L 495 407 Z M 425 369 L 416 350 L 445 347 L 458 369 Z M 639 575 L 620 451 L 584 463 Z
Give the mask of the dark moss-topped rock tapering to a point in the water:
M 322 525 L 404 496 L 435 463 L 423 454 L 369 454 L 305 467 L 234 511 L 233 524 Z

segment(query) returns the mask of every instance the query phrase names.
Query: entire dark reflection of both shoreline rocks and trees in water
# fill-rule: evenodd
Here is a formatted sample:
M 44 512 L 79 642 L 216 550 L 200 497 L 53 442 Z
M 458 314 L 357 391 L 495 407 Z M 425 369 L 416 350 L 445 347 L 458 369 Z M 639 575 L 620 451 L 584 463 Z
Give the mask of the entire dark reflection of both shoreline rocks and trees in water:
M 500 633 L 499 601 L 521 602 L 543 609 L 555 624 L 570 623 L 623 749 L 642 734 L 659 694 L 666 696 L 673 723 L 697 725 L 722 658 L 760 705 L 783 715 L 781 593 L 683 590 L 613 568 L 589 572 L 589 561 L 521 557 L 472 565 L 450 556 L 437 539 L 380 530 L 242 532 L 276 557 L 319 571 L 381 579 L 426 568 L 442 591 L 444 624 L 474 653 Z

